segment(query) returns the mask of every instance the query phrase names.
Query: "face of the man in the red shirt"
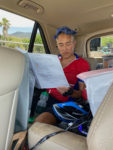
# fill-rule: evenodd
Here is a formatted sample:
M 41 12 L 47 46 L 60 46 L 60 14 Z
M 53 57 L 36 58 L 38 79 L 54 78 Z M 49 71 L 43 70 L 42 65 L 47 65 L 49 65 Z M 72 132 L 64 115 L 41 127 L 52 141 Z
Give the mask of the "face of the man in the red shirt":
M 63 58 L 68 58 L 73 55 L 75 41 L 71 35 L 61 33 L 57 37 L 57 46 Z

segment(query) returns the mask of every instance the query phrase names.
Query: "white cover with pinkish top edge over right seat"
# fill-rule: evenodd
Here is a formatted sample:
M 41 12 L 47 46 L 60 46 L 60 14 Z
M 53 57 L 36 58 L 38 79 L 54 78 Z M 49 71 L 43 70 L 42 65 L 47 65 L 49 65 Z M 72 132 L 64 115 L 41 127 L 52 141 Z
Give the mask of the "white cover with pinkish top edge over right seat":
M 88 101 L 94 116 L 110 85 L 113 83 L 113 68 L 84 72 L 77 77 L 86 84 Z

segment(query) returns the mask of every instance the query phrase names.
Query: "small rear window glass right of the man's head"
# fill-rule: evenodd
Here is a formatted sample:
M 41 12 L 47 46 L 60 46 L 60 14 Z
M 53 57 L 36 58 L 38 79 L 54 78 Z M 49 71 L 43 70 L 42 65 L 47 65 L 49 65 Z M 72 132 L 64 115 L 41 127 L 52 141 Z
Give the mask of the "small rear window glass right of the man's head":
M 113 35 L 101 36 L 90 40 L 89 57 L 101 58 L 113 54 Z

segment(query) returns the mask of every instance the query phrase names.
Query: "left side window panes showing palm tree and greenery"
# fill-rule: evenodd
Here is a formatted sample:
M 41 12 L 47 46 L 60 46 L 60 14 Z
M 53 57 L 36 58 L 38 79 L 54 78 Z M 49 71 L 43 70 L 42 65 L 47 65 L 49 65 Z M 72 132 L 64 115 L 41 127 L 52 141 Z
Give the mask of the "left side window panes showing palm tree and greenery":
M 0 45 L 28 51 L 34 23 L 33 20 L 0 9 Z M 39 29 L 33 52 L 45 53 Z

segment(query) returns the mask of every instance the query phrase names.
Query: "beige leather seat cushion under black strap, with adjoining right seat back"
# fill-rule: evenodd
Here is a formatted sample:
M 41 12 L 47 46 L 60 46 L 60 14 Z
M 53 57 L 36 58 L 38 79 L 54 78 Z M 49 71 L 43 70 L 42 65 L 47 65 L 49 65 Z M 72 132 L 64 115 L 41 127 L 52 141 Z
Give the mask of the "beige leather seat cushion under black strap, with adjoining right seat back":
M 52 125 L 35 123 L 28 132 L 29 147 L 58 130 Z M 113 150 L 113 84 L 92 121 L 87 138 L 64 132 L 51 137 L 35 150 Z

